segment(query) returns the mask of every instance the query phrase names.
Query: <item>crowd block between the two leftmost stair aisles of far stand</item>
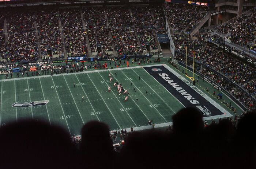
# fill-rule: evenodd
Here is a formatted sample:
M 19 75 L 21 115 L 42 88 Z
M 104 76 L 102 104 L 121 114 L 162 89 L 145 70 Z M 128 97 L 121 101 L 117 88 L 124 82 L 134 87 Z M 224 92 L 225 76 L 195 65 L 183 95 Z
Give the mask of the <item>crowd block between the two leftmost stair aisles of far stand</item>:
M 8 12 L 8 55 L 11 62 L 38 59 L 34 17 L 30 11 Z

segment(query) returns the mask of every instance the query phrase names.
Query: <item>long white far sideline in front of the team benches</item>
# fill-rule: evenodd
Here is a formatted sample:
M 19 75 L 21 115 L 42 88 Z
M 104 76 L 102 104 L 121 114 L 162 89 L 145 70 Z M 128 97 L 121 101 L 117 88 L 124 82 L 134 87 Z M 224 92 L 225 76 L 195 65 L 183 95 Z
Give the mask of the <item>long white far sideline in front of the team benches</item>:
M 141 67 L 152 67 L 152 66 L 162 66 L 163 64 L 152 64 L 152 65 L 144 65 L 144 66 L 134 66 L 134 67 L 122 67 L 122 68 L 113 68 L 110 69 L 109 71 L 114 71 L 114 70 L 123 70 L 123 69 L 133 69 L 133 68 L 141 68 Z M 93 72 L 103 72 L 106 70 L 89 70 L 89 71 L 82 71 L 82 72 L 76 72 L 76 73 L 61 73 L 61 74 L 53 74 L 52 76 L 65 76 L 65 75 L 74 75 L 74 74 L 86 74 L 86 73 L 93 73 Z M 39 76 L 29 76 L 29 77 L 24 77 L 24 78 L 13 78 L 13 79 L 1 79 L 0 82 L 2 81 L 12 81 L 12 80 L 22 80 L 22 79 L 34 79 L 34 78 L 44 78 L 44 77 L 51 77 L 51 75 L 39 75 Z

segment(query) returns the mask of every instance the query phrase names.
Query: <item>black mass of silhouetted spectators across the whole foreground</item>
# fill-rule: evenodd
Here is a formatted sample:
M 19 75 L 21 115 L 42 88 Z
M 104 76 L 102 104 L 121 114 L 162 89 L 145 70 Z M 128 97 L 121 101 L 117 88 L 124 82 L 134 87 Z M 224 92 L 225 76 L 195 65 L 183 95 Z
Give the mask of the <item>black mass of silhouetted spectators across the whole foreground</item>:
M 103 122 L 87 122 L 82 139 L 40 121 L 15 122 L 0 129 L 0 168 L 255 168 L 255 111 L 208 124 L 197 109 L 184 108 L 172 121 L 165 131 L 131 128 L 123 132 L 125 138 L 115 133 L 125 139 L 120 153 L 113 150 L 112 133 Z

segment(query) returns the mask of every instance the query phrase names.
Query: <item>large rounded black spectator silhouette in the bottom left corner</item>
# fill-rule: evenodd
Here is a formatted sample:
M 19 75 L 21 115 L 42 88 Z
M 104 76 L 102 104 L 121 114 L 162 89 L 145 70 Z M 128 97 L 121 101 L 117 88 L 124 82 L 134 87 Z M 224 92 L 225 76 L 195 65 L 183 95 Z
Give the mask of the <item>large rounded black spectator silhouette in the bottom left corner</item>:
M 23 121 L 0 130 L 0 168 L 71 168 L 75 153 L 69 134 L 43 122 Z

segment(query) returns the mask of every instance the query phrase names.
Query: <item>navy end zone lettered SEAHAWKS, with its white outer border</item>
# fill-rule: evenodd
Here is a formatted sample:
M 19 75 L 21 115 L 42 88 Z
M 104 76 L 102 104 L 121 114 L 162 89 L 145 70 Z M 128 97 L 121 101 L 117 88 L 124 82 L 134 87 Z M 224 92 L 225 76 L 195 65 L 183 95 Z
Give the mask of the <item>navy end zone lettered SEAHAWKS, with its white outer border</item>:
M 143 68 L 169 93 L 174 95 L 182 105 L 200 110 L 204 120 L 232 117 L 227 110 L 166 64 Z

